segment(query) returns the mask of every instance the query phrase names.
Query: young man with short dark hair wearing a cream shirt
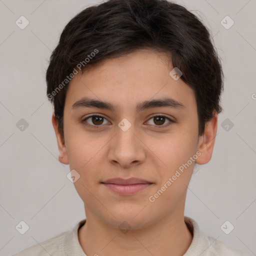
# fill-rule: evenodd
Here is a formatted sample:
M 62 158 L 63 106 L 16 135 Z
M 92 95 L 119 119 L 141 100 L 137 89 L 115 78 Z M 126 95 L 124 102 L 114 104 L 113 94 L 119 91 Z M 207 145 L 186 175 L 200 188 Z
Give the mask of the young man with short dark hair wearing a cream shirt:
M 195 15 L 166 0 L 88 7 L 61 33 L 46 81 L 86 219 L 16 255 L 242 255 L 184 216 L 222 110 L 221 65 Z

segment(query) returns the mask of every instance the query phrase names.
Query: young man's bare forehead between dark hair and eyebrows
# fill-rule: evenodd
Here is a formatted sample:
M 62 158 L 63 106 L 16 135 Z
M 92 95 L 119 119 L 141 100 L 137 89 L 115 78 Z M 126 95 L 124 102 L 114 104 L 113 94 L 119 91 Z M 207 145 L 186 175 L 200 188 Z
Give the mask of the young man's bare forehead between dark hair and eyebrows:
M 111 102 L 119 110 L 163 97 L 171 97 L 185 108 L 195 106 L 193 90 L 181 79 L 171 78 L 172 68 L 166 54 L 145 49 L 104 59 L 72 78 L 65 107 L 71 108 L 84 96 Z

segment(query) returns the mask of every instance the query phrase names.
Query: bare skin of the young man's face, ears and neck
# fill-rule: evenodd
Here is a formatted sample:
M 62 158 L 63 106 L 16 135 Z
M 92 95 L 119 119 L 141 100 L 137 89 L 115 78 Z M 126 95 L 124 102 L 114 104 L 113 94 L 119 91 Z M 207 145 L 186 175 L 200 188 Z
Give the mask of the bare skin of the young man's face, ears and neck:
M 86 255 L 183 255 L 192 241 L 184 222 L 187 186 L 194 163 L 207 163 L 212 155 L 217 114 L 198 137 L 195 94 L 181 79 L 170 77 L 166 54 L 149 49 L 106 59 L 77 74 L 69 83 L 64 106 L 64 139 L 52 115 L 59 149 L 59 161 L 75 169 L 80 178 L 75 189 L 84 202 L 86 223 L 78 238 Z M 171 96 L 185 108 L 154 107 L 137 112 L 144 100 Z M 115 111 L 99 108 L 72 109 L 83 96 L 110 102 Z M 100 128 L 90 114 L 105 117 Z M 165 114 L 160 125 L 152 116 Z M 118 127 L 126 118 L 127 131 Z M 170 124 L 170 125 L 168 125 Z M 155 129 L 154 129 L 155 127 Z M 196 151 L 201 154 L 157 198 L 148 197 L 174 175 Z M 138 177 L 153 182 L 132 195 L 119 195 L 103 185 L 113 177 Z M 118 226 L 126 221 L 130 229 Z

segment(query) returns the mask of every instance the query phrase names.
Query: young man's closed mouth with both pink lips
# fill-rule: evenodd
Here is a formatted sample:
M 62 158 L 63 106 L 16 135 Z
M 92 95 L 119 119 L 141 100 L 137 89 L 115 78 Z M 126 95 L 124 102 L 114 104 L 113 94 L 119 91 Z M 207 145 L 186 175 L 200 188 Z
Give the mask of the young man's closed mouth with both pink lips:
M 145 179 L 134 178 L 134 177 L 131 177 L 128 179 L 111 178 L 100 183 L 102 183 L 108 189 L 120 195 L 134 194 L 138 191 L 148 188 L 153 184 L 152 182 L 149 182 Z

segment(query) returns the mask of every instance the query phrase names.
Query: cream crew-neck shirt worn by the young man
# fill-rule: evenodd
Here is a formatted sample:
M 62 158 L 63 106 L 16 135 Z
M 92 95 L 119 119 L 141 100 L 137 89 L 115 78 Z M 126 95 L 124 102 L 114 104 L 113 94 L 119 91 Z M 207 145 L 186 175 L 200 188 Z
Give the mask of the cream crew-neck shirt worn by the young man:
M 78 229 L 85 221 L 86 219 L 83 219 L 71 230 L 62 232 L 12 256 L 86 256 L 78 240 Z M 184 216 L 184 221 L 191 233 L 193 233 L 193 238 L 183 256 L 246 256 L 221 241 L 206 235 L 199 229 L 198 224 L 192 218 Z

